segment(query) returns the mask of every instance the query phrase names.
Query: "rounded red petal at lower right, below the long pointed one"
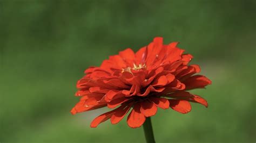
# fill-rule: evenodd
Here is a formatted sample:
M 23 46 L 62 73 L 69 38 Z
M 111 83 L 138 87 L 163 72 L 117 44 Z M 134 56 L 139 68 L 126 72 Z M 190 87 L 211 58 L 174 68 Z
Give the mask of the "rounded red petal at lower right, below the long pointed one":
M 188 113 L 191 111 L 190 102 L 179 100 L 179 99 L 169 99 L 170 107 L 180 113 Z

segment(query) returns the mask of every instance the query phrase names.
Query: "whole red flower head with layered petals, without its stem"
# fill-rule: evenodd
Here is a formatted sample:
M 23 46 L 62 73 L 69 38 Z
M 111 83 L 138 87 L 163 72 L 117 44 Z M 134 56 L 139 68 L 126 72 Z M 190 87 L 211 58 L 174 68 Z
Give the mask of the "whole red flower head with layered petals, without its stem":
M 188 113 L 190 102 L 207 107 L 204 98 L 186 90 L 204 88 L 211 81 L 194 75 L 200 72 L 199 66 L 189 66 L 193 56 L 183 54 L 177 44 L 163 45 L 163 38 L 157 37 L 136 53 L 127 48 L 104 60 L 100 67 L 86 69 L 86 75 L 77 82 L 76 96 L 80 101 L 71 113 L 104 106 L 116 108 L 95 118 L 91 127 L 97 127 L 108 119 L 117 124 L 131 110 L 127 124 L 136 128 L 143 125 L 146 117 L 156 115 L 158 108 Z

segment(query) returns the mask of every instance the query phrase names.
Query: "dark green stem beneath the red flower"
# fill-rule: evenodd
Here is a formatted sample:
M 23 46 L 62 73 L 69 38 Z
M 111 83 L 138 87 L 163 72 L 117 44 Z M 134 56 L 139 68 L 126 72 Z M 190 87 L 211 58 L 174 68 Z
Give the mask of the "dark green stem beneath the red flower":
M 156 143 L 156 141 L 154 141 L 154 134 L 150 117 L 146 118 L 146 121 L 143 124 L 143 128 L 147 143 Z

